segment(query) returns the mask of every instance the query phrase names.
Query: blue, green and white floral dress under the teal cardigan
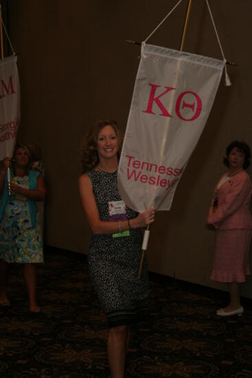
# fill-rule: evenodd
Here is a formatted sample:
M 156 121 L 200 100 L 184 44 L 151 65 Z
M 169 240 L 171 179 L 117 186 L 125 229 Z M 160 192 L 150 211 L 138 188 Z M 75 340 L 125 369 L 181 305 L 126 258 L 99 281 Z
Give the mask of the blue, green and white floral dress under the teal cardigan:
M 14 177 L 12 183 L 28 189 L 28 176 Z M 43 242 L 39 215 L 32 226 L 27 198 L 12 193 L 0 223 L 0 258 L 7 263 L 43 263 Z

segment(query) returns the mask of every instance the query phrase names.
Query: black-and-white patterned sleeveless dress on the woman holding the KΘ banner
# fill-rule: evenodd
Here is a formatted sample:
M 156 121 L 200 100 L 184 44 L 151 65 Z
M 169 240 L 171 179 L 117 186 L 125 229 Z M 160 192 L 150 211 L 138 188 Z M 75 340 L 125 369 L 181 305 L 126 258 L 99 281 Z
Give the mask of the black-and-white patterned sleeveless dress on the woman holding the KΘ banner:
M 122 201 L 117 188 L 117 172 L 87 171 L 101 221 L 109 221 L 108 201 Z M 127 219 L 137 212 L 126 206 Z M 141 257 L 141 229 L 130 230 L 129 236 L 113 238 L 112 234 L 91 238 L 88 261 L 92 285 L 98 294 L 108 326 L 133 324 L 148 314 L 147 261 L 141 278 L 137 270 Z

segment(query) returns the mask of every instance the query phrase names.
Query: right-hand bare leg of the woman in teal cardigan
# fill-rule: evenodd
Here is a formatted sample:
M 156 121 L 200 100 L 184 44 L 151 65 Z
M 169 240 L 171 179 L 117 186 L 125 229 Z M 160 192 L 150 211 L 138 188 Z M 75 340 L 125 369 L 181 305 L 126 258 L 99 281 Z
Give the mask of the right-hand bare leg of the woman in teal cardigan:
M 36 302 L 36 266 L 35 264 L 24 264 L 23 265 L 23 276 L 25 278 L 25 283 L 27 286 L 30 311 L 33 313 L 38 313 L 40 311 L 38 304 Z

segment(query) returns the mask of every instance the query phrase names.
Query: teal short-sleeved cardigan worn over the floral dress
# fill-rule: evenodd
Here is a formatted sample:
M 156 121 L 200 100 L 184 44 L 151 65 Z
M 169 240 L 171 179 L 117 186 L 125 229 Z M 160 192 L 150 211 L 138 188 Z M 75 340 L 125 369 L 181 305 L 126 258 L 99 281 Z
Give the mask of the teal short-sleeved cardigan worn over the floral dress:
M 28 185 L 29 189 L 31 190 L 36 190 L 38 188 L 37 186 L 37 180 L 38 180 L 38 175 L 40 173 L 37 170 L 29 170 L 28 171 Z M 12 181 L 14 177 L 13 171 L 10 171 L 10 181 Z M 3 193 L 1 197 L 1 203 L 0 203 L 0 220 L 3 218 L 3 214 L 5 211 L 5 206 L 8 201 L 8 179 L 7 179 L 7 173 L 5 175 L 5 181 L 4 181 L 4 187 L 3 187 Z M 36 202 L 32 201 L 32 199 L 27 199 L 28 205 L 29 205 L 29 210 L 30 210 L 30 216 L 31 216 L 31 221 L 32 221 L 32 226 L 36 226 L 36 212 L 37 212 L 37 207 L 36 207 Z

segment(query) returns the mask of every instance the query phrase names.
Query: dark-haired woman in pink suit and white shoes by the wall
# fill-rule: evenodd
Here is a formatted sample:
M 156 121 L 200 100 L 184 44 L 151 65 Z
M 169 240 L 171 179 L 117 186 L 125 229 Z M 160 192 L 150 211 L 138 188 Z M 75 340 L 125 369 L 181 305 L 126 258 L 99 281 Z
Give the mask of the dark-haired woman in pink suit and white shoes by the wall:
M 250 165 L 250 148 L 244 142 L 227 146 L 224 164 L 229 168 L 214 189 L 207 224 L 216 230 L 216 252 L 211 280 L 227 282 L 230 303 L 217 315 L 242 315 L 240 284 L 250 274 L 249 247 L 252 220 L 249 206 L 252 185 L 245 169 Z

